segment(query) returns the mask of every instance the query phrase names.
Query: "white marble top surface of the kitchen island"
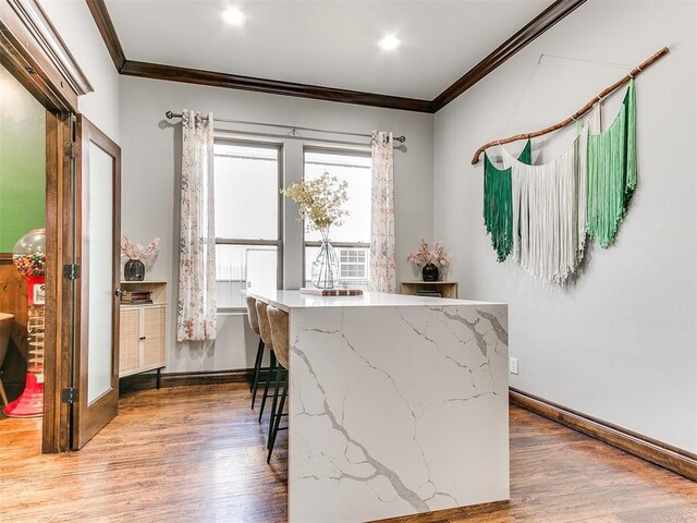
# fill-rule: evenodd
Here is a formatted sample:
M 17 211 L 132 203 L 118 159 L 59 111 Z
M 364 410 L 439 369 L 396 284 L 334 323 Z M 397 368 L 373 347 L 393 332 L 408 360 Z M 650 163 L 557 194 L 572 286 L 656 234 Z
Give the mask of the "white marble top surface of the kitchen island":
M 271 291 L 264 293 L 248 292 L 248 295 L 273 305 L 282 311 L 313 307 L 407 307 L 407 306 L 444 306 L 444 305 L 500 305 L 492 302 L 470 300 L 453 300 L 450 297 L 416 296 L 406 294 L 387 294 L 365 292 L 360 296 L 315 296 L 301 291 Z

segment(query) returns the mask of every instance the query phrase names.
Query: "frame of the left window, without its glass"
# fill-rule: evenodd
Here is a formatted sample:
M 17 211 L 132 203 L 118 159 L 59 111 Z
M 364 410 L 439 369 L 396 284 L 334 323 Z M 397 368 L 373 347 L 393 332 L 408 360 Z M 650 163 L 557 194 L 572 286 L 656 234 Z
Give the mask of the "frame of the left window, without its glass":
M 239 238 L 219 238 L 216 235 L 216 245 L 240 245 L 240 246 L 276 246 L 276 282 L 277 289 L 283 289 L 283 195 L 281 188 L 283 188 L 283 143 L 282 142 L 266 142 L 255 139 L 244 139 L 236 137 L 213 137 L 213 157 L 223 156 L 216 155 L 216 145 L 240 145 L 243 147 L 253 147 L 259 149 L 277 149 L 278 151 L 278 177 L 277 177 L 277 203 L 278 203 L 278 223 L 277 223 L 277 239 L 276 240 L 253 240 L 253 239 L 239 239 Z M 217 307 L 219 313 L 239 313 L 246 311 L 246 307 Z

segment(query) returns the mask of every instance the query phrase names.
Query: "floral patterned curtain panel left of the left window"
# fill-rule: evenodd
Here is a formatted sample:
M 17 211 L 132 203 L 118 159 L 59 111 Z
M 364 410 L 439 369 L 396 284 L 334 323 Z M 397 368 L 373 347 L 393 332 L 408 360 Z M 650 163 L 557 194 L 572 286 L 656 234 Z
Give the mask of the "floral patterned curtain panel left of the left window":
M 178 341 L 216 339 L 213 115 L 182 111 Z

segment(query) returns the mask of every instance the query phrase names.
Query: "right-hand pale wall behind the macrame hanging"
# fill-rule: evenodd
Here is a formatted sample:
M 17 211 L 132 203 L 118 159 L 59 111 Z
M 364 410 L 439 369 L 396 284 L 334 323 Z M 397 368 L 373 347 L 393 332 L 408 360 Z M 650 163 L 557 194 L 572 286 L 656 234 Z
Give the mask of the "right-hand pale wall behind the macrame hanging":
M 510 304 L 511 356 L 519 360 L 511 385 L 693 452 L 696 22 L 694 2 L 588 2 L 439 111 L 433 150 L 435 235 L 453 251 L 464 297 Z M 592 247 L 565 289 L 497 264 L 474 150 L 566 118 L 624 74 L 553 58 L 535 70 L 540 53 L 634 66 L 663 46 L 671 53 L 637 78 L 639 185 L 615 245 Z

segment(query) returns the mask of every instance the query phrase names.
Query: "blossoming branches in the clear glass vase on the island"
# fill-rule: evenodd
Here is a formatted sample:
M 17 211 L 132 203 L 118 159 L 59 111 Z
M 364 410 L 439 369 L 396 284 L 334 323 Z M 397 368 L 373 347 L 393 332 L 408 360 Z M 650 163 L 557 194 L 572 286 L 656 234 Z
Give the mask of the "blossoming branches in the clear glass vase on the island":
M 286 198 L 297 204 L 297 219 L 305 221 L 309 230 L 327 230 L 341 226 L 348 211 L 343 205 L 348 202 L 347 182 L 325 172 L 321 177 L 282 188 Z

